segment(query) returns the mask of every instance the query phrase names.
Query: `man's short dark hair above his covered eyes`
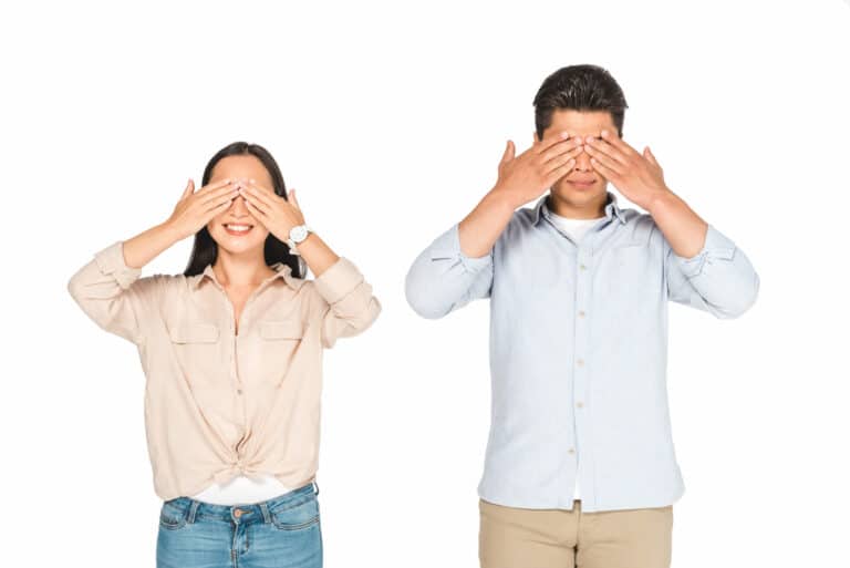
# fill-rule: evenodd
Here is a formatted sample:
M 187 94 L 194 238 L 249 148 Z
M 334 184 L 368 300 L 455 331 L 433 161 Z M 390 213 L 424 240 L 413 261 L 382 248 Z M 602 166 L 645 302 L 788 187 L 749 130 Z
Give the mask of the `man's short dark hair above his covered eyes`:
M 623 90 L 607 70 L 599 65 L 561 68 L 543 81 L 535 96 L 535 125 L 542 140 L 543 131 L 552 124 L 552 113 L 560 109 L 573 111 L 608 111 L 618 135 L 623 137 L 625 110 Z

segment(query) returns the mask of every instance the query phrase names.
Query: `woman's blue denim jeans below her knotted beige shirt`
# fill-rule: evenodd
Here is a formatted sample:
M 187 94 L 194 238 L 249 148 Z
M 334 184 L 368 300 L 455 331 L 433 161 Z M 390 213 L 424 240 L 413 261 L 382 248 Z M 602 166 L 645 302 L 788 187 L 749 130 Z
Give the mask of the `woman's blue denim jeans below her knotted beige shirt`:
M 163 502 L 157 568 L 321 568 L 319 487 L 250 505 Z

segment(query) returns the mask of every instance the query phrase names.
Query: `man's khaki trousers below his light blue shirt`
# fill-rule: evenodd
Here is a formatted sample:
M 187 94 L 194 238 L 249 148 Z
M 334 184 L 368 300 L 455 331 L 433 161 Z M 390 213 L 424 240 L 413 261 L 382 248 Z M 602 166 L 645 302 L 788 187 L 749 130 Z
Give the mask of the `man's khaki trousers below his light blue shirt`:
M 668 568 L 673 505 L 582 513 L 479 499 L 481 568 Z

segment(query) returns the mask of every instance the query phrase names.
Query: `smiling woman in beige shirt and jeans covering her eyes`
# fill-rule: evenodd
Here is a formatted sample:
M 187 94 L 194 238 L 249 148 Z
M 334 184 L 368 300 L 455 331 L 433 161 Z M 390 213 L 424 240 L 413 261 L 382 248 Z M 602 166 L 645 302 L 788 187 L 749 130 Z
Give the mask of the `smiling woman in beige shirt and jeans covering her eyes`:
M 320 567 L 322 349 L 366 329 L 381 306 L 307 227 L 265 148 L 222 148 L 201 185 L 189 179 L 165 223 L 96 252 L 68 289 L 138 347 L 163 499 L 157 566 Z M 190 235 L 183 275 L 139 278 Z

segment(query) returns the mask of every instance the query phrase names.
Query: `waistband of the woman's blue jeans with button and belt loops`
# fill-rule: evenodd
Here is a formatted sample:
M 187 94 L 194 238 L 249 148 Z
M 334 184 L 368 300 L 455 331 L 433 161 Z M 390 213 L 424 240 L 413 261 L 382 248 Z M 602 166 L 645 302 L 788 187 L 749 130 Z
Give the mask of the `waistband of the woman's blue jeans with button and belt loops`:
M 232 520 L 236 523 L 256 523 L 257 520 L 269 523 L 270 512 L 294 507 L 317 495 L 319 495 L 319 485 L 315 482 L 311 482 L 298 489 L 292 489 L 259 503 L 218 505 L 182 496 L 163 502 L 163 507 L 176 508 L 180 516 L 186 518 L 187 523 L 195 523 L 199 517 L 212 520 Z

